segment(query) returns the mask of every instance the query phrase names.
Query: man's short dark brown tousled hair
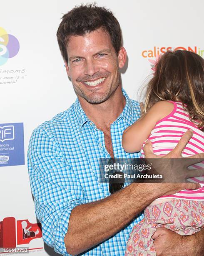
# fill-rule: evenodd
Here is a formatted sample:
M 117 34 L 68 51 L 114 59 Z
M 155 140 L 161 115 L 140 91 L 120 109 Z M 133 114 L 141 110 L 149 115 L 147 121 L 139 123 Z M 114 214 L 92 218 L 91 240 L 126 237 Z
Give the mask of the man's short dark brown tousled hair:
M 98 28 L 104 29 L 109 34 L 112 46 L 118 54 L 122 46 L 122 33 L 119 22 L 110 10 L 98 7 L 94 3 L 76 6 L 62 16 L 62 21 L 57 30 L 57 41 L 62 57 L 67 64 L 66 46 L 70 36 L 83 36 Z

